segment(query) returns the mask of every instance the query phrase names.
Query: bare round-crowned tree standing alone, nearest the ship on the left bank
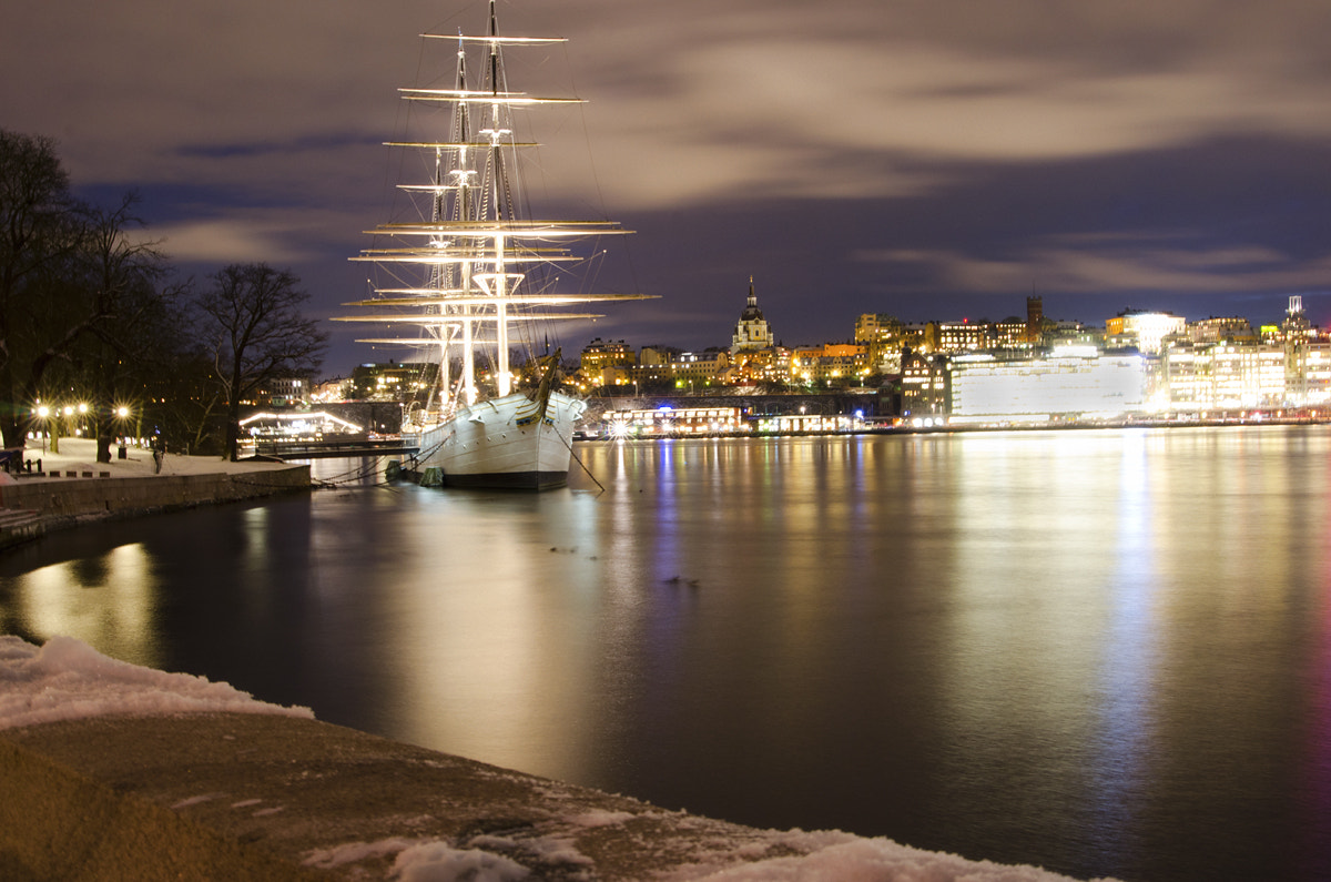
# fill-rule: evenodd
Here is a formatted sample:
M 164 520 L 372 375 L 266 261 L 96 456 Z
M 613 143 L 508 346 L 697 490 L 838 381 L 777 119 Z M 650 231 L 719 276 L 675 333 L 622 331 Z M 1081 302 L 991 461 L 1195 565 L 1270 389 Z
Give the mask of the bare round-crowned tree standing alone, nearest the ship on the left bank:
M 198 308 L 226 394 L 226 457 L 234 461 L 241 401 L 273 378 L 318 369 L 327 334 L 301 314 L 309 294 L 287 270 L 232 264 L 212 281 Z

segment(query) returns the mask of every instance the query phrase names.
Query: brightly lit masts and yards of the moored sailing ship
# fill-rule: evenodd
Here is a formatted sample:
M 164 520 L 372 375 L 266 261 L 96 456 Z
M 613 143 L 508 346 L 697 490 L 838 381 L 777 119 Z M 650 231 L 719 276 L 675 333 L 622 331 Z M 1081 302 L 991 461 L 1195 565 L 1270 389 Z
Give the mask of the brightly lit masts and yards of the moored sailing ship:
M 422 35 L 442 37 L 445 35 Z M 586 260 L 574 244 L 626 230 L 612 221 L 519 220 L 522 193 L 514 192 L 510 175 L 518 172 L 516 152 L 535 144 L 514 139 L 512 108 L 544 104 L 580 104 L 576 97 L 535 97 L 510 92 L 500 51 L 506 45 L 563 43 L 560 37 L 499 36 L 495 0 L 490 0 L 486 36 L 458 35 L 457 75 L 453 88 L 403 88 L 409 101 L 434 101 L 451 107 L 450 140 L 393 141 L 391 147 L 429 149 L 434 168 L 425 184 L 401 184 L 401 189 L 429 195 L 431 204 L 419 222 L 387 222 L 367 230 L 377 241 L 354 261 L 389 268 L 394 264 L 422 265 L 421 286 L 375 288 L 375 297 L 349 306 L 370 306 L 371 314 L 341 316 L 334 321 L 363 321 L 419 325 L 441 350 L 441 405 L 451 406 L 449 353 L 462 349 L 459 402 L 473 405 L 480 398 L 475 384 L 475 350 L 495 346 L 495 392 L 512 390 L 510 377 L 508 325 L 531 320 L 599 318 L 599 313 L 554 312 L 551 306 L 608 300 L 643 300 L 644 294 L 555 294 L 531 293 L 522 284 L 530 264 L 580 262 Z M 467 51 L 487 52 L 482 81 L 467 84 Z M 475 59 L 474 59 L 475 60 Z M 471 107 L 476 105 L 476 120 Z M 486 112 L 488 111 L 488 112 Z M 479 123 L 479 128 L 476 124 Z M 512 153 L 510 156 L 510 152 Z M 519 181 L 520 184 L 520 181 Z M 371 338 L 365 342 L 407 344 L 401 338 Z M 419 342 L 419 341 L 417 341 Z

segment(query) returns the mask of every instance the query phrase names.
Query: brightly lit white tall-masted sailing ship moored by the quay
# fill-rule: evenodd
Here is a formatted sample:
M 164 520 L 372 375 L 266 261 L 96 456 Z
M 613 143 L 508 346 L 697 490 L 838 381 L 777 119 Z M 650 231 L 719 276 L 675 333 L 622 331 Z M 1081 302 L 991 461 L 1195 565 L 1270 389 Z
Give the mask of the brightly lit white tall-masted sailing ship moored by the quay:
M 386 144 L 423 160 L 421 180 L 398 185 L 413 215 L 367 230 L 374 246 L 351 260 L 374 264 L 379 278 L 370 298 L 346 305 L 370 312 L 335 321 L 414 326 L 414 337 L 359 342 L 426 346 L 438 358 L 429 401 L 403 414 L 403 440 L 418 448 L 409 468 L 450 486 L 544 490 L 567 484 L 574 425 L 586 409 L 560 389 L 547 322 L 602 317 L 570 312 L 574 304 L 646 296 L 559 290 L 570 269 L 596 256 L 599 237 L 630 230 L 532 217 L 522 161 L 538 144 L 515 136 L 514 116 L 580 99 L 510 88 L 506 52 L 564 40 L 500 36 L 495 0 L 488 5 L 483 36 L 422 35 L 427 44 L 457 44 L 454 79 L 399 92 L 411 108 L 431 111 L 421 116 L 435 120 L 442 137 Z M 510 364 L 514 349 L 528 353 L 526 384 Z

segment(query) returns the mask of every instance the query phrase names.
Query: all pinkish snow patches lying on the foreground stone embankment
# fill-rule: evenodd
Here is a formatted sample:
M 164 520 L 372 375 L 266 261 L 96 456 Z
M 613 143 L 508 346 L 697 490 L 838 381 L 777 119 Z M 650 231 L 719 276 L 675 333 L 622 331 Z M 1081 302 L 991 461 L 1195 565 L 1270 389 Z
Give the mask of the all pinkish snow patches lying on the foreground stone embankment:
M 43 646 L 0 634 L 0 730 L 96 715 L 240 711 L 310 717 L 307 707 L 280 707 L 256 701 L 226 683 L 190 674 L 170 674 L 108 658 L 72 637 L 53 637 Z M 190 801 L 176 807 L 189 805 Z M 685 830 L 703 825 L 728 834 L 712 842 L 695 863 L 656 874 L 659 882 L 1055 882 L 1067 879 L 1032 866 L 974 862 L 921 851 L 885 838 L 823 830 L 749 830 L 659 810 Z M 502 835 L 475 837 L 457 849 L 441 839 L 390 838 L 347 842 L 305 855 L 311 867 L 331 869 L 371 857 L 393 855 L 389 878 L 397 882 L 518 882 L 531 873 L 498 851 L 515 850 L 542 862 L 595 875 L 594 862 L 576 849 L 579 830 L 616 827 L 638 815 L 627 811 L 570 809 L 534 838 L 520 843 Z M 634 834 L 626 830 L 626 839 Z M 478 847 L 479 846 L 479 847 Z M 487 846 L 494 850 L 487 850 Z M 780 855 L 780 857 L 769 857 Z M 578 875 L 574 874 L 574 877 Z M 574 878 L 570 877 L 570 878 Z

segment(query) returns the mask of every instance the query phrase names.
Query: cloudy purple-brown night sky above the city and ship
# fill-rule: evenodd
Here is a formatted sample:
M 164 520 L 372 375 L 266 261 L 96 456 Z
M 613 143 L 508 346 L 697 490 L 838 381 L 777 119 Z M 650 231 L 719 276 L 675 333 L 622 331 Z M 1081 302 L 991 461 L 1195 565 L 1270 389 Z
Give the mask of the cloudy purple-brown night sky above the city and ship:
M 11 4 L 0 127 L 57 140 L 79 195 L 142 197 L 184 272 L 290 268 L 318 316 L 390 219 L 397 88 L 451 75 L 473 0 Z M 728 345 L 749 276 L 785 345 L 906 321 L 1123 308 L 1331 324 L 1331 4 L 1203 0 L 500 0 L 542 111 L 543 216 L 611 217 L 563 328 Z M 423 45 L 429 43 L 429 45 Z M 429 61 L 422 51 L 427 51 Z M 588 157 L 590 152 L 590 157 Z M 329 324 L 325 373 L 403 352 Z

